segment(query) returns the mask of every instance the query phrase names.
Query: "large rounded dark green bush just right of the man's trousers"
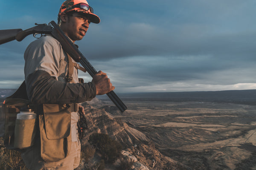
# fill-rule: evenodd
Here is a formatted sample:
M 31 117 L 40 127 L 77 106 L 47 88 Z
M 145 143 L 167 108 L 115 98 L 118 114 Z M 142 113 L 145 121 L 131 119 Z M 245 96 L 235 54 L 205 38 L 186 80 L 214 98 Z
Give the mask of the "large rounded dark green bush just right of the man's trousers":
M 113 163 L 120 156 L 122 145 L 107 134 L 93 133 L 88 142 L 99 150 L 105 162 Z

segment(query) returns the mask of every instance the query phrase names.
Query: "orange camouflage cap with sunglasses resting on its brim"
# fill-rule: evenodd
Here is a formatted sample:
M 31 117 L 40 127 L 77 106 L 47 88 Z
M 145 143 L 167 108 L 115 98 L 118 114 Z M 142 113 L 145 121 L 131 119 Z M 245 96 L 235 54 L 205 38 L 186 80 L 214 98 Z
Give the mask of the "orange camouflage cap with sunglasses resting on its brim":
M 90 21 L 92 23 L 98 24 L 100 22 L 99 17 L 96 14 L 93 14 L 93 8 L 89 6 L 86 0 L 66 0 L 62 3 L 58 15 L 63 12 L 77 11 L 90 16 Z

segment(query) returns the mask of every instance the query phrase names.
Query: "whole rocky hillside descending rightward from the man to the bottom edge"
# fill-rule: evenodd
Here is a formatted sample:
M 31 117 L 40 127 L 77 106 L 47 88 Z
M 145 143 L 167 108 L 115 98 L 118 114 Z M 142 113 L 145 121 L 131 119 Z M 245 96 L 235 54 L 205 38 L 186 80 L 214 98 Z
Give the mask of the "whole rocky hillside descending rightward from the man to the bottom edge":
M 151 142 L 148 136 L 137 129 L 129 127 L 119 118 L 120 111 L 114 106 L 102 106 L 101 100 L 95 98 L 84 102 L 89 130 L 85 132 L 82 144 L 87 144 L 93 133 L 105 133 L 112 139 L 119 141 L 126 149 L 122 151 L 123 159 L 134 160 L 132 170 L 187 170 L 183 164 L 162 155 Z M 95 107 L 94 107 L 95 106 Z M 116 116 L 117 115 L 117 116 Z M 108 170 L 116 170 L 118 161 Z

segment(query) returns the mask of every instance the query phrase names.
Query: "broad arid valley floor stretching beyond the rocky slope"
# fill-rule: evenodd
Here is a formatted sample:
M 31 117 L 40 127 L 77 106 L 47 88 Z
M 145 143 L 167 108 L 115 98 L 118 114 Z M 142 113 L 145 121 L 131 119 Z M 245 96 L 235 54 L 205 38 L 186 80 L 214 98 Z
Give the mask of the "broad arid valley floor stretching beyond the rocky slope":
M 175 169 L 256 169 L 255 105 L 124 102 L 128 110 L 123 114 L 113 111 L 115 119 L 145 134 L 160 153 L 184 165 Z M 148 168 L 154 169 L 149 164 Z

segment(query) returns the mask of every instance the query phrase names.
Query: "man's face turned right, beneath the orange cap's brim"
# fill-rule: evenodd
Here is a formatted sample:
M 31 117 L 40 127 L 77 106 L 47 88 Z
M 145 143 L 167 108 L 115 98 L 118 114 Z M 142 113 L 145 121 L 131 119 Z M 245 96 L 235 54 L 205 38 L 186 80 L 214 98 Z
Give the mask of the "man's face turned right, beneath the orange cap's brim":
M 90 19 L 82 14 L 74 13 L 72 16 L 67 18 L 65 23 L 65 29 L 63 30 L 68 37 L 74 42 L 77 40 L 82 40 L 86 34 Z

